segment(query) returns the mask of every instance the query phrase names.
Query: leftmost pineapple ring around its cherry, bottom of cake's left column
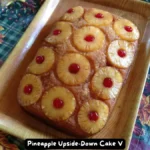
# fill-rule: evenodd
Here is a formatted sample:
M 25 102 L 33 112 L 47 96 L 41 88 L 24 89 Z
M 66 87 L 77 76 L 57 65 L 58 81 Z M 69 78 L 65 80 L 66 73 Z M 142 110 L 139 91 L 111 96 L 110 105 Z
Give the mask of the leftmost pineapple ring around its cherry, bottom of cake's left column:
M 24 93 L 24 88 L 27 85 L 32 85 L 32 92 L 30 94 Z M 26 74 L 22 80 L 20 81 L 19 89 L 18 89 L 18 99 L 19 103 L 22 106 L 29 106 L 31 104 L 36 103 L 41 97 L 43 92 L 42 82 L 39 77 Z

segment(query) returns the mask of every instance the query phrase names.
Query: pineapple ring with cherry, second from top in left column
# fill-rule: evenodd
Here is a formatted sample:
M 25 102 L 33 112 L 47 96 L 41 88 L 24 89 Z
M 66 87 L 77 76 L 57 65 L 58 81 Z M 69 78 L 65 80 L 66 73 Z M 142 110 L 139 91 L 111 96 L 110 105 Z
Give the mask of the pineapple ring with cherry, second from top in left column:
M 72 34 L 70 23 L 59 21 L 55 24 L 53 31 L 46 37 L 50 44 L 59 44 L 65 42 Z

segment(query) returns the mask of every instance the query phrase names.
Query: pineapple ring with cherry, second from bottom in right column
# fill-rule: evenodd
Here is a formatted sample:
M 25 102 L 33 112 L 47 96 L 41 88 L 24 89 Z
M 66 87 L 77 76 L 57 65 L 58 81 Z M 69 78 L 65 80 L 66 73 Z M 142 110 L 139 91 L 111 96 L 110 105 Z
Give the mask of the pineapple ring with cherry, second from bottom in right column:
M 108 87 L 104 86 L 105 79 L 108 80 L 106 81 L 106 84 L 108 82 Z M 122 82 L 122 75 L 117 69 L 113 67 L 102 67 L 92 78 L 92 91 L 101 99 L 113 99 L 118 96 Z

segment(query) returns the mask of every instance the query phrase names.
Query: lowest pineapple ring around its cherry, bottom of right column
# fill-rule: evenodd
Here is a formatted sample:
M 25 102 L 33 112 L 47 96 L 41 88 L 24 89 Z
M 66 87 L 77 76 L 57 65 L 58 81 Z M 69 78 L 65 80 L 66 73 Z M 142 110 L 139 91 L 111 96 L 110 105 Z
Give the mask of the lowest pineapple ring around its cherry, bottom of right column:
M 89 112 L 96 111 L 98 118 L 91 121 L 88 117 Z M 78 113 L 78 123 L 81 129 L 87 133 L 94 134 L 100 131 L 107 122 L 109 116 L 108 106 L 100 100 L 90 100 L 85 102 Z

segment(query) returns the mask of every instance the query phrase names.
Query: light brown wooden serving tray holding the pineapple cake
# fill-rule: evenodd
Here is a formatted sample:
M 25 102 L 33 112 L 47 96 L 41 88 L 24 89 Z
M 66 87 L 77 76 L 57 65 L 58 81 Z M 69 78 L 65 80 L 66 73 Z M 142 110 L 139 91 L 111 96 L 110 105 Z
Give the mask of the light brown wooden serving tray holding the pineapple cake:
M 87 2 L 89 1 L 89 2 Z M 0 129 L 20 138 L 69 138 L 24 112 L 17 103 L 17 88 L 49 26 L 70 7 L 81 5 L 110 11 L 133 21 L 141 44 L 129 78 L 121 90 L 105 128 L 90 138 L 125 138 L 128 146 L 150 59 L 150 5 L 131 0 L 46 0 L 37 16 L 0 69 Z M 63 6 L 63 7 L 62 7 Z M 109 7 L 108 7 L 109 6 Z M 134 6 L 134 7 L 133 7 Z M 145 29 L 149 31 L 144 35 Z M 142 39 L 143 38 L 143 39 Z M 36 40 L 35 40 L 36 39 Z

